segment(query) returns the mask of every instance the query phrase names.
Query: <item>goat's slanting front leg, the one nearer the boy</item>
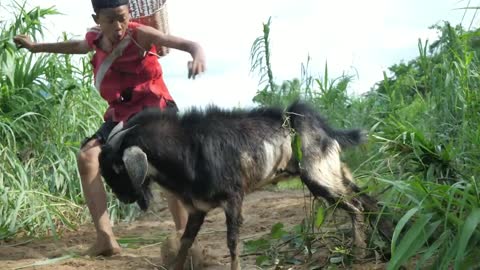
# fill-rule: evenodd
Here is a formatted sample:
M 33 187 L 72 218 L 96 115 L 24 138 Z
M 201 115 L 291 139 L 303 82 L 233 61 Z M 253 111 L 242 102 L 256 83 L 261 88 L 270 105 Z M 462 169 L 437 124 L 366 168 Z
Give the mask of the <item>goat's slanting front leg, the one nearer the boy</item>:
M 201 211 L 193 212 L 188 215 L 187 226 L 183 232 L 182 239 L 180 240 L 180 250 L 174 261 L 175 270 L 183 270 L 183 266 L 185 265 L 188 256 L 188 250 L 192 246 L 195 237 L 197 237 L 198 231 L 200 231 L 200 228 L 202 227 L 205 215 L 206 213 Z

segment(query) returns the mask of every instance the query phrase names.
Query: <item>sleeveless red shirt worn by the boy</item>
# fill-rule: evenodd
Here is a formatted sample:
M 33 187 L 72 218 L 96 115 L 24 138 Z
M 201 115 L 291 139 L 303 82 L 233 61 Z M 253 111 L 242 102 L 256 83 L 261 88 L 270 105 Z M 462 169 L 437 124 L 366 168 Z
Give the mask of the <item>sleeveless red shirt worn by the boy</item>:
M 130 22 L 128 29 L 133 39 L 136 40 L 138 23 Z M 85 35 L 88 45 L 94 49 L 95 54 L 91 60 L 93 74 L 96 77 L 101 63 L 108 56 L 108 52 L 100 49 L 97 44 L 102 36 L 98 28 L 90 29 Z M 100 85 L 100 95 L 108 102 L 108 109 L 104 119 L 115 122 L 125 121 L 145 107 L 158 107 L 163 109 L 167 101 L 173 101 L 163 81 L 163 71 L 157 56 L 145 53 L 133 41 L 125 48 L 106 72 Z M 155 46 L 150 52 L 156 53 Z M 121 94 L 131 92 L 131 98 L 123 99 Z

